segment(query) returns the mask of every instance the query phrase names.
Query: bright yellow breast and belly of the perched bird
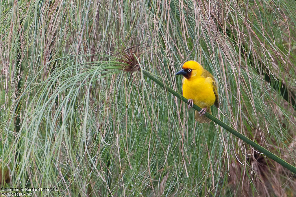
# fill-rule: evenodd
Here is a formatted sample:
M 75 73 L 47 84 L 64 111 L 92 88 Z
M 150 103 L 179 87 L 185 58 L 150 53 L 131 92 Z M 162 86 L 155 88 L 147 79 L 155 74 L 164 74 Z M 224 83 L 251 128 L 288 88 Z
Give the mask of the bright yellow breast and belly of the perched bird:
M 183 96 L 192 99 L 194 104 L 200 108 L 210 107 L 215 102 L 213 90 L 213 79 L 210 77 L 196 78 L 194 80 L 184 79 Z

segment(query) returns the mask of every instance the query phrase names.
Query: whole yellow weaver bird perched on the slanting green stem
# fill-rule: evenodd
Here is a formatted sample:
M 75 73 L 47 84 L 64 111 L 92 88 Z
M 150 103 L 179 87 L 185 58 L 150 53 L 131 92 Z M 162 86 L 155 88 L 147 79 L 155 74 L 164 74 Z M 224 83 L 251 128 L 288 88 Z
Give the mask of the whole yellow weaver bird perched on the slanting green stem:
M 184 76 L 183 79 L 183 96 L 188 99 L 188 108 L 193 103 L 202 110 L 195 111 L 195 120 L 200 123 L 209 123 L 211 120 L 205 117 L 205 112 L 212 114 L 210 106 L 215 104 L 219 107 L 218 85 L 207 70 L 205 70 L 196 61 L 187 61 L 182 69 L 176 73 Z

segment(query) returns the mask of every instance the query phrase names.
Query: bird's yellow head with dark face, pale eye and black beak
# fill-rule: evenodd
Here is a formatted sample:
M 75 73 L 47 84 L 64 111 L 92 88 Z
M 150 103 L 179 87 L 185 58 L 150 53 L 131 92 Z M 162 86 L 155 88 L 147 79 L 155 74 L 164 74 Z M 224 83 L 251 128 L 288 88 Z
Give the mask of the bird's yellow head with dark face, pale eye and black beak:
M 193 79 L 202 74 L 203 67 L 196 61 L 186 61 L 180 71 L 176 73 L 183 75 L 186 79 Z

